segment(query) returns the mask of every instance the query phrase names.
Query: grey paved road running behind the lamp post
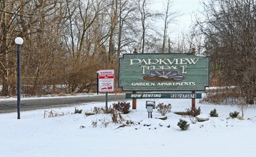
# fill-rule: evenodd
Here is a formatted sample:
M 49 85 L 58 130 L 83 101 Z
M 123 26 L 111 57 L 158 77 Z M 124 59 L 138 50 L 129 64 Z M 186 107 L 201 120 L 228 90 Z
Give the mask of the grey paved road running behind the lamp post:
M 21 98 L 21 111 L 35 109 L 59 108 L 64 106 L 77 106 L 82 103 L 105 102 L 106 96 L 63 96 L 51 98 Z M 107 101 L 126 101 L 125 94 L 108 95 Z M 0 99 L 0 113 L 11 113 L 17 111 L 15 99 Z

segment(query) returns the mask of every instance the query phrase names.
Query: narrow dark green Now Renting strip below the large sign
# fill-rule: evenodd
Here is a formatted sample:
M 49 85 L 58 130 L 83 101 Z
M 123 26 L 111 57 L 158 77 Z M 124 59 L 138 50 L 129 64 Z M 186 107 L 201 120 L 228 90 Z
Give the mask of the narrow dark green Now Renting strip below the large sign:
M 202 98 L 202 93 L 126 93 L 125 98 Z

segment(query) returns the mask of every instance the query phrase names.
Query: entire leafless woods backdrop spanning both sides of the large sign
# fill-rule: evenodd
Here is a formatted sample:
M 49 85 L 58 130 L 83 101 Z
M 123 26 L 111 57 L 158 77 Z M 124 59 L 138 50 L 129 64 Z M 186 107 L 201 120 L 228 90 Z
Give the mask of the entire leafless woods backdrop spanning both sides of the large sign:
M 253 0 L 202 1 L 189 33 L 170 40 L 181 14 L 171 0 L 159 11 L 150 0 L 1 0 L 0 95 L 16 95 L 16 44 L 21 45 L 21 93 L 91 92 L 99 69 L 138 53 L 187 53 L 211 57 L 212 86 L 236 86 L 255 98 L 256 6 Z M 117 81 L 116 81 L 117 83 Z

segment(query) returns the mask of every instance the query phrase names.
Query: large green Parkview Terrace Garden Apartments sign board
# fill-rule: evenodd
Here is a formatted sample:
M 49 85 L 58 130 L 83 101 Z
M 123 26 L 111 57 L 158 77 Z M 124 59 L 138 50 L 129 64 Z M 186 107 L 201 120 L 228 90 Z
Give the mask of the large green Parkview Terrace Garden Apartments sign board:
M 124 54 L 119 58 L 122 91 L 205 91 L 210 58 L 191 54 Z

